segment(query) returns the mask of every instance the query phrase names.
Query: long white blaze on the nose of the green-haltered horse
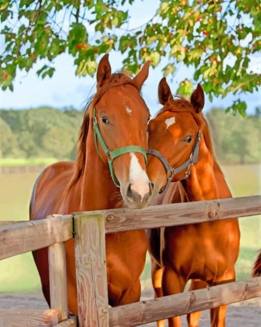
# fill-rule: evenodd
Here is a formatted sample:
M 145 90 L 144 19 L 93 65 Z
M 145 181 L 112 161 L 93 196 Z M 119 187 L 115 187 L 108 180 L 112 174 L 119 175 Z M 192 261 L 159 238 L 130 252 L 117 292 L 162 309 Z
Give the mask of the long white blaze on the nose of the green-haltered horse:
M 141 196 L 141 202 L 144 195 L 149 192 L 149 181 L 145 170 L 141 168 L 139 160 L 136 155 L 130 153 L 130 166 L 129 166 L 129 181 L 131 184 L 131 189 L 138 192 Z

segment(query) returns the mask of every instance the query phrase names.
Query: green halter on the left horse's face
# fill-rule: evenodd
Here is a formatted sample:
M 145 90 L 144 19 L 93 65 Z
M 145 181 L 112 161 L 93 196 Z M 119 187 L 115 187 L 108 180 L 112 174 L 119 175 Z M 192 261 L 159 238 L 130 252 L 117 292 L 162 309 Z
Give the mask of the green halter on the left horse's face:
M 147 164 L 147 154 L 146 151 L 137 145 L 127 145 L 127 146 L 123 146 L 123 147 L 119 147 L 118 149 L 115 149 L 113 151 L 109 150 L 105 144 L 105 142 L 102 139 L 101 136 L 101 132 L 99 129 L 99 126 L 97 124 L 97 118 L 96 118 L 96 108 L 94 107 L 94 112 L 93 112 L 93 129 L 94 129 L 94 141 L 95 141 L 95 146 L 97 149 L 97 152 L 99 154 L 99 149 L 98 149 L 98 142 L 97 142 L 97 137 L 100 141 L 101 147 L 105 153 L 105 155 L 107 156 L 108 159 L 108 166 L 110 168 L 110 173 L 111 173 L 111 177 L 112 180 L 115 184 L 115 186 L 120 187 L 120 183 L 117 180 L 114 171 L 113 171 L 113 161 L 115 158 L 122 156 L 124 154 L 127 154 L 129 152 L 139 152 L 140 154 L 142 154 L 142 156 L 144 157 L 145 160 L 145 164 Z

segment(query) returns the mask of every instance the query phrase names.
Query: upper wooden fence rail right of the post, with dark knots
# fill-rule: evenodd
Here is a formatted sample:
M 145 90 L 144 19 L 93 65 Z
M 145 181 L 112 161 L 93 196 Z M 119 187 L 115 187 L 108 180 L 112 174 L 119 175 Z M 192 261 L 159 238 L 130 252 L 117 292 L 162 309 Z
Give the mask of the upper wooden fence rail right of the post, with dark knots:
M 88 212 L 93 214 L 93 212 Z M 261 213 L 261 195 L 149 206 L 144 209 L 96 211 L 105 217 L 106 233 L 196 224 Z M 86 214 L 86 213 L 85 213 Z

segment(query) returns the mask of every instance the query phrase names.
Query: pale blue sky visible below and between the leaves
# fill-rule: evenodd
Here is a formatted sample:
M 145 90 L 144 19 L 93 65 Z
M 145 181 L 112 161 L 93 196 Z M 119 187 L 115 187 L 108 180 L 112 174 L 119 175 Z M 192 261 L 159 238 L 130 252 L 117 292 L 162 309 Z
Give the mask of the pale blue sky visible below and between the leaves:
M 146 23 L 155 14 L 159 1 L 138 0 L 134 6 L 129 7 L 130 24 L 129 28 L 135 28 L 143 23 Z M 90 33 L 92 31 L 88 30 Z M 3 47 L 3 39 L 0 39 L 0 48 Z M 2 51 L 1 51 L 2 52 Z M 110 62 L 112 71 L 121 69 L 121 61 L 123 55 L 120 52 L 110 52 Z M 40 69 L 44 61 L 37 62 L 34 68 L 29 72 L 17 71 L 14 81 L 14 91 L 0 90 L 0 108 L 30 108 L 43 105 L 53 107 L 70 107 L 81 109 L 89 95 L 93 94 L 96 89 L 96 77 L 90 76 L 78 77 L 75 76 L 74 58 L 68 54 L 62 54 L 54 60 L 54 67 L 56 69 L 52 78 L 45 78 L 42 80 L 36 75 L 36 71 Z M 148 79 L 146 80 L 142 89 L 143 98 L 145 99 L 150 112 L 154 115 L 161 105 L 158 101 L 157 89 L 158 83 L 162 78 L 162 69 L 167 64 L 167 58 L 164 58 L 156 69 L 150 68 Z M 260 73 L 261 58 L 254 57 L 251 59 L 250 67 L 253 71 Z M 167 81 L 170 82 L 172 93 L 178 88 L 179 83 L 184 79 L 192 79 L 193 68 L 187 68 L 184 65 L 176 71 L 173 81 L 170 82 L 170 76 Z M 240 96 L 242 100 L 247 103 L 247 112 L 253 113 L 257 105 L 261 103 L 261 92 L 254 92 L 253 94 L 243 94 Z M 214 98 L 210 102 L 206 96 L 204 111 L 209 110 L 213 106 L 227 107 L 236 100 L 237 96 L 228 95 L 226 98 Z

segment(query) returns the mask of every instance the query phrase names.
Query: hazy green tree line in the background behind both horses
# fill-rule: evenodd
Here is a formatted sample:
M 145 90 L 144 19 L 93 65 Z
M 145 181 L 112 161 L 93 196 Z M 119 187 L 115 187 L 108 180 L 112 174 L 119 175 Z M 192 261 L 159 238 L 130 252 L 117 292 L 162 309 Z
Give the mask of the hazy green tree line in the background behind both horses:
M 206 118 L 217 159 L 240 164 L 260 161 L 260 108 L 245 118 L 212 108 Z M 0 110 L 0 158 L 73 160 L 81 120 L 82 111 L 74 108 Z

